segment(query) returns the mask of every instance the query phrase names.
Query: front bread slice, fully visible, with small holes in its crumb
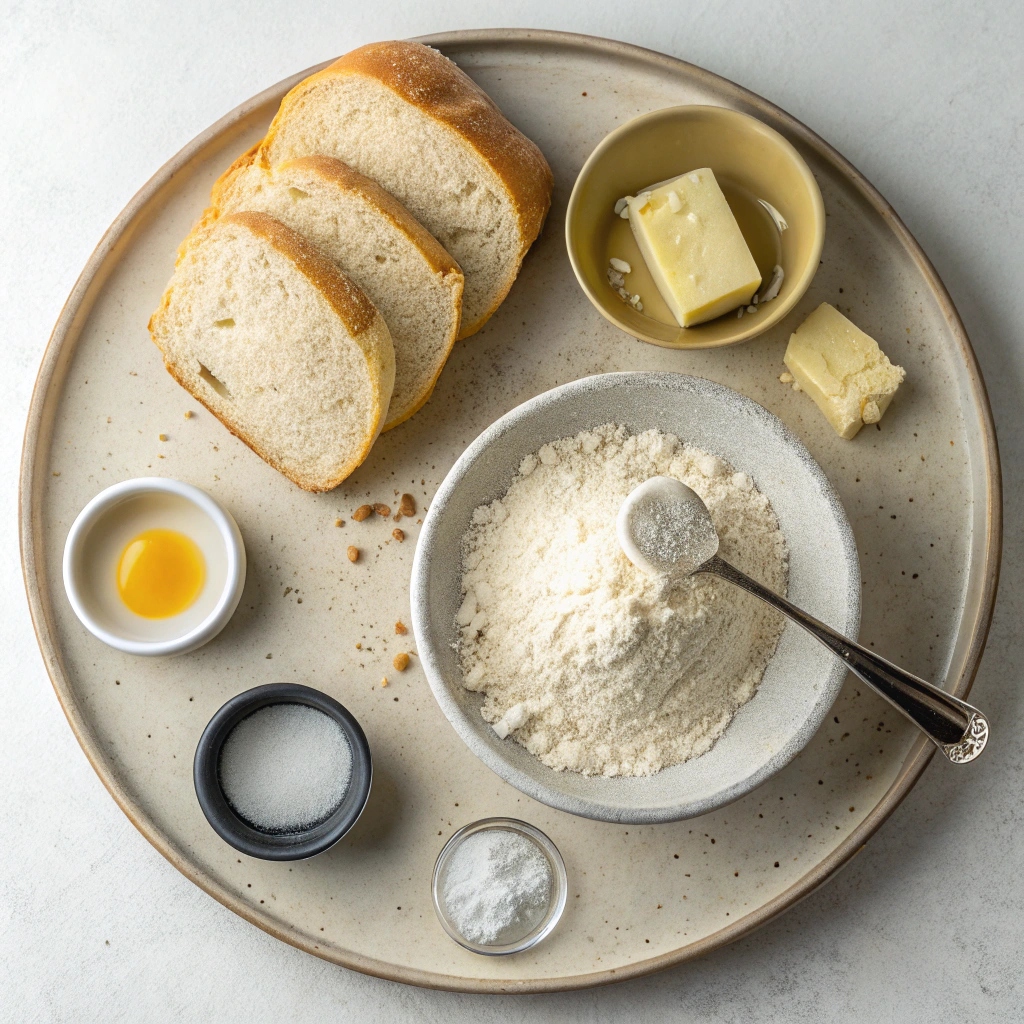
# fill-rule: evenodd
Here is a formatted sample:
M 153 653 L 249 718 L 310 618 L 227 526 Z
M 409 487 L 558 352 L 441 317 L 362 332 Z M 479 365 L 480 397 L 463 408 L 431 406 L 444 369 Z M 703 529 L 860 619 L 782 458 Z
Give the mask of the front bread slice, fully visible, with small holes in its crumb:
M 171 376 L 306 490 L 337 486 L 380 433 L 394 384 L 384 317 L 264 213 L 194 232 L 150 331 Z

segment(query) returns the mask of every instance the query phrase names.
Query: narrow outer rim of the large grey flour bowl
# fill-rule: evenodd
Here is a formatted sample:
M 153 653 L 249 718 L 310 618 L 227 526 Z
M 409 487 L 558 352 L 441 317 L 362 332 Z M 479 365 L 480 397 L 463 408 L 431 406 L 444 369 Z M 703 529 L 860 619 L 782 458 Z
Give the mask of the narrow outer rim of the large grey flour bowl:
M 836 702 L 836 698 L 839 696 L 839 691 L 842 689 L 847 676 L 847 669 L 843 662 L 838 657 L 833 659 L 827 677 L 822 680 L 818 699 L 811 708 L 803 725 L 794 733 L 788 742 L 783 744 L 760 768 L 745 778 L 732 786 L 720 790 L 703 799 L 687 800 L 677 805 L 663 805 L 656 808 L 638 806 L 624 810 L 622 807 L 611 806 L 599 800 L 569 796 L 557 790 L 549 788 L 510 764 L 503 756 L 483 741 L 478 732 L 479 725 L 470 721 L 469 716 L 464 713 L 463 709 L 450 692 L 450 686 L 445 682 L 437 657 L 427 611 L 426 595 L 429 593 L 429 581 L 434 569 L 433 545 L 437 538 L 438 524 L 456 489 L 470 468 L 477 460 L 485 456 L 487 450 L 496 440 L 514 430 L 521 422 L 535 416 L 541 410 L 571 400 L 575 395 L 585 391 L 591 392 L 623 386 L 658 388 L 690 395 L 699 394 L 745 408 L 761 421 L 766 430 L 770 431 L 780 444 L 793 453 L 793 457 L 796 460 L 800 461 L 806 467 L 817 482 L 822 498 L 835 513 L 836 522 L 842 537 L 843 558 L 849 571 L 849 587 L 846 594 L 848 617 L 847 622 L 839 624 L 837 628 L 851 640 L 857 639 L 861 611 L 860 559 L 857 554 L 857 543 L 843 503 L 840 501 L 835 487 L 833 487 L 825 476 L 824 471 L 811 456 L 804 442 L 777 416 L 754 401 L 753 398 L 748 398 L 733 388 L 719 384 L 716 381 L 710 381 L 706 378 L 694 377 L 688 374 L 670 372 L 625 371 L 596 374 L 591 377 L 583 377 L 575 381 L 569 381 L 566 384 L 559 385 L 532 398 L 528 398 L 483 430 L 469 444 L 459 459 L 456 460 L 452 469 L 449 470 L 447 475 L 441 481 L 430 503 L 427 515 L 424 517 L 423 528 L 420 531 L 416 555 L 413 559 L 413 575 L 410 588 L 412 625 L 420 660 L 427 676 L 427 681 L 430 684 L 430 689 L 434 694 L 434 699 L 436 699 L 444 717 L 452 724 L 453 728 L 455 728 L 463 742 L 496 775 L 527 797 L 569 814 L 618 824 L 660 824 L 696 817 L 700 814 L 717 810 L 719 807 L 724 807 L 726 804 L 745 796 L 752 790 L 756 790 L 772 775 L 784 768 L 807 745 L 824 721 L 831 706 Z M 554 437 L 551 438 L 551 440 L 555 439 Z M 452 685 L 461 687 L 462 682 L 461 680 L 456 680 Z M 557 773 L 552 770 L 552 774 L 555 775 Z

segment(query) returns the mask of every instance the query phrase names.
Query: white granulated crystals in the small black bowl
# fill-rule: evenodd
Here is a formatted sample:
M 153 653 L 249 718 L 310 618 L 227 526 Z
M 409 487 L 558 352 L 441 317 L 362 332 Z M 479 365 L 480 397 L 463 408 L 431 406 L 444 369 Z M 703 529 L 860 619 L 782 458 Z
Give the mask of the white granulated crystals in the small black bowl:
M 338 723 L 315 708 L 261 708 L 228 734 L 220 785 L 228 804 L 265 831 L 310 828 L 342 801 L 352 749 Z

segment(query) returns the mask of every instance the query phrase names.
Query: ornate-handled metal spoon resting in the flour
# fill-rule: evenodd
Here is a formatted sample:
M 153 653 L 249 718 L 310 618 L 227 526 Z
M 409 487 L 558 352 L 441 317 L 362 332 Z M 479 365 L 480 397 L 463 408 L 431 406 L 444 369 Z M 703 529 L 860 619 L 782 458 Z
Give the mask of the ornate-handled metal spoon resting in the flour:
M 644 572 L 680 580 L 712 572 L 777 608 L 910 719 L 953 764 L 973 761 L 985 749 L 988 720 L 977 708 L 848 640 L 720 558 L 707 506 L 680 480 L 655 476 L 641 483 L 623 503 L 616 529 L 626 557 Z

